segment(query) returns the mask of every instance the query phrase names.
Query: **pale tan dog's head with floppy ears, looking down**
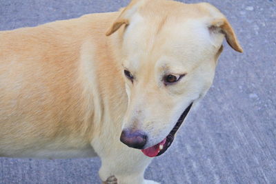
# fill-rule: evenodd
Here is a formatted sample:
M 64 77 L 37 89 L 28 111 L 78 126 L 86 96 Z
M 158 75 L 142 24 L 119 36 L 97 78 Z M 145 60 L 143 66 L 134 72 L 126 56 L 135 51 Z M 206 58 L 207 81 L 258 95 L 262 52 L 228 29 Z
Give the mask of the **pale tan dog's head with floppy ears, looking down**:
M 224 15 L 208 3 L 134 0 L 106 34 L 114 32 L 128 94 L 121 141 L 159 156 L 213 83 L 223 39 L 242 48 Z

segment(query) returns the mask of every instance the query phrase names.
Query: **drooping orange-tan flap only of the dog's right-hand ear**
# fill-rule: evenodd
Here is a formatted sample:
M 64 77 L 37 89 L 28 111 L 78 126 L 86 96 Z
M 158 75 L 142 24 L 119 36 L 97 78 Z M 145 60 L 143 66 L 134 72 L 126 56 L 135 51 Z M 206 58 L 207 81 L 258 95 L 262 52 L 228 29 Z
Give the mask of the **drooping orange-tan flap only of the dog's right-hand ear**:
M 208 26 L 210 31 L 217 30 L 225 35 L 227 43 L 237 52 L 243 52 L 242 46 L 239 45 L 239 41 L 235 35 L 235 32 L 226 18 L 215 19 Z

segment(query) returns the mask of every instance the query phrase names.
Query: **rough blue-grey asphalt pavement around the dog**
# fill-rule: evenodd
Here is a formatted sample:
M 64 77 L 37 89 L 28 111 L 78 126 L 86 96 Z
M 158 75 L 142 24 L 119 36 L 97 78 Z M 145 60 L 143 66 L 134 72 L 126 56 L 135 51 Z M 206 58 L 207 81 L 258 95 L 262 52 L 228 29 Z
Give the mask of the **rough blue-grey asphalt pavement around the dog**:
M 145 177 L 161 183 L 276 183 L 276 2 L 207 1 L 226 14 L 244 53 L 225 44 L 206 98 Z M 115 11 L 127 3 L 0 0 L 0 30 Z M 98 158 L 1 158 L 0 183 L 100 183 L 99 167 Z

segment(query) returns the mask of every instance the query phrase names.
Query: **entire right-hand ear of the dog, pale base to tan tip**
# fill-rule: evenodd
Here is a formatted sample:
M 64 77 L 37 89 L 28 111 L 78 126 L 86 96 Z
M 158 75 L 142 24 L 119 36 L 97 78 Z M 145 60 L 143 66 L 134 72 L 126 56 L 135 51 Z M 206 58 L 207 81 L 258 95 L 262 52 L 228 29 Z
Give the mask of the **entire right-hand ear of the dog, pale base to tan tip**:
M 201 6 L 207 10 L 210 14 L 210 19 L 208 20 L 208 29 L 213 33 L 222 33 L 225 35 L 227 43 L 236 50 L 237 52 L 243 52 L 242 46 L 239 45 L 236 34 L 224 16 L 217 8 L 211 6 L 209 3 L 201 3 Z

